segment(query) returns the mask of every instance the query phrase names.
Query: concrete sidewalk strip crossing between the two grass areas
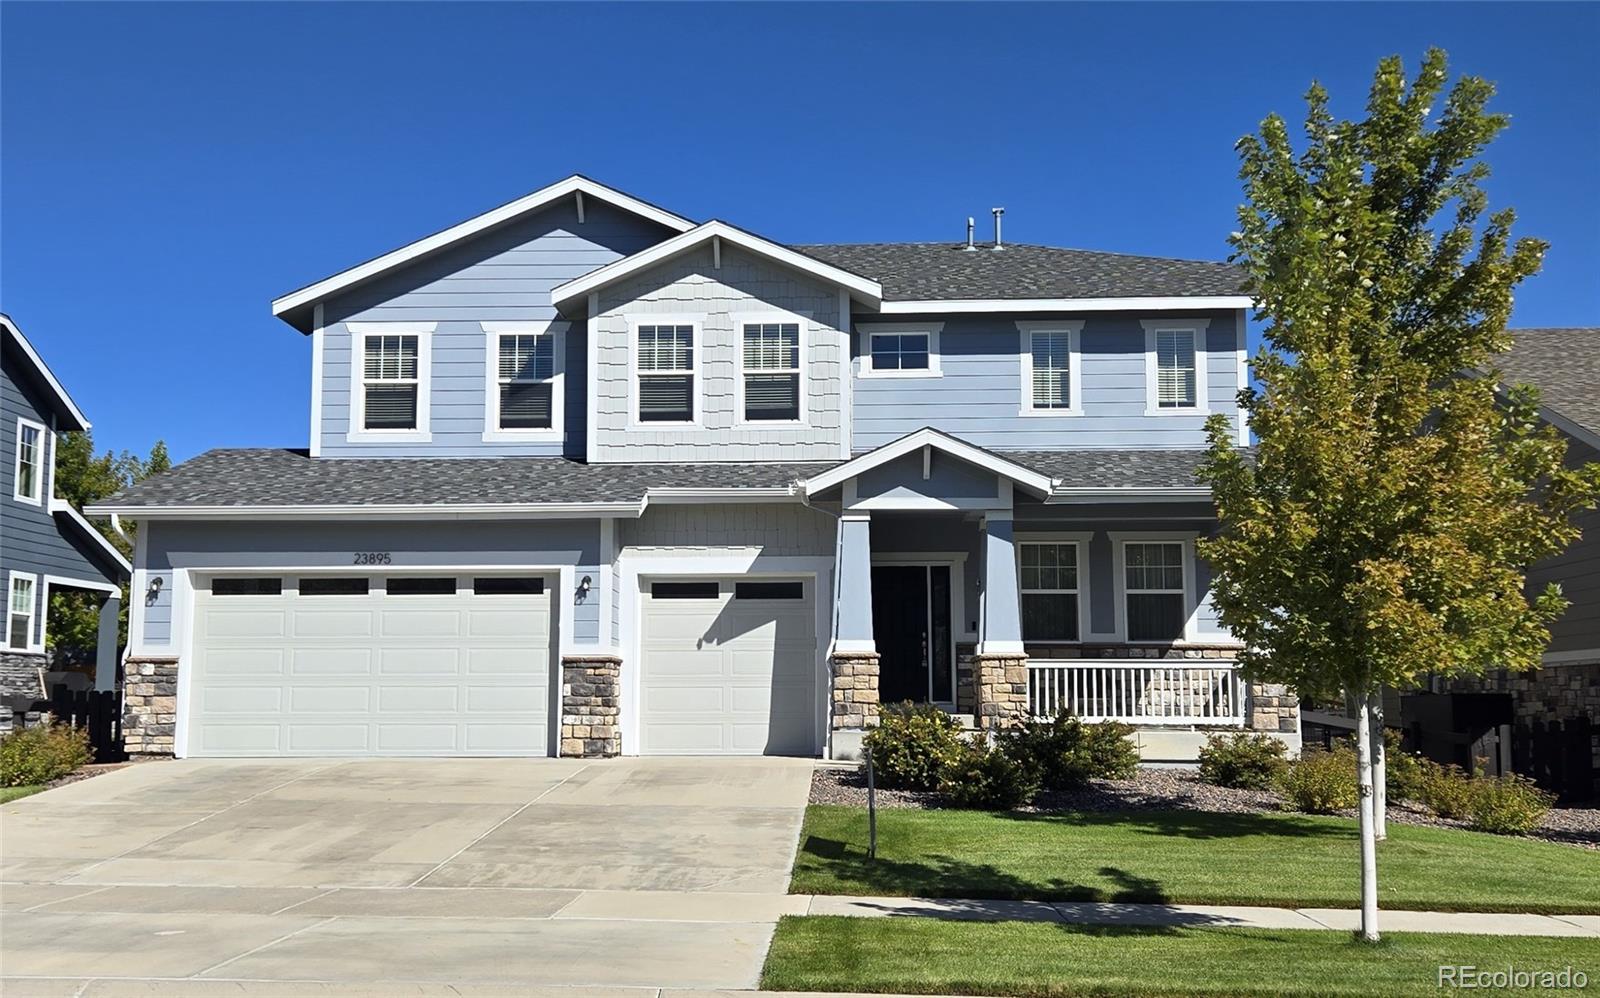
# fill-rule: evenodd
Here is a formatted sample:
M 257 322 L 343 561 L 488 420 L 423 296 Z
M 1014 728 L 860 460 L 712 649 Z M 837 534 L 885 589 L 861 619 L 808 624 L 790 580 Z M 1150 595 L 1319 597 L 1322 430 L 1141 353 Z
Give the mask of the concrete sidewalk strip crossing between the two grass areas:
M 813 894 L 806 915 L 851 918 L 947 918 L 965 921 L 1054 921 L 1062 924 L 1210 926 L 1242 929 L 1355 931 L 1354 908 L 1267 908 L 1245 905 L 1094 904 L 1046 900 L 971 900 L 936 897 L 846 897 Z M 1462 932 L 1469 936 L 1579 936 L 1600 939 L 1600 915 L 1517 915 L 1499 912 L 1379 910 L 1386 932 Z

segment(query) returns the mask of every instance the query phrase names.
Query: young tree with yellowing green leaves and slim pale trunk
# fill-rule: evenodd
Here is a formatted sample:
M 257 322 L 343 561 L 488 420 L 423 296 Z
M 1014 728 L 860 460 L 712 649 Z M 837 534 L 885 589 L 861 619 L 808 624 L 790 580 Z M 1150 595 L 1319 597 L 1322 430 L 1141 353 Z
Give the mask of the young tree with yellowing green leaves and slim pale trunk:
M 1312 85 L 1298 155 L 1277 115 L 1240 139 L 1232 243 L 1266 320 L 1261 387 L 1240 393 L 1258 448 L 1246 459 L 1213 417 L 1200 472 L 1222 525 L 1202 555 L 1246 675 L 1354 702 L 1373 940 L 1374 697 L 1539 665 L 1566 603 L 1525 595 L 1525 568 L 1600 496 L 1600 465 L 1565 467 L 1534 390 L 1496 395 L 1512 289 L 1546 246 L 1510 242 L 1510 210 L 1483 214 L 1480 154 L 1506 126 L 1493 86 L 1462 77 L 1430 125 L 1445 67 L 1432 50 L 1408 83 L 1384 59 L 1360 122 Z

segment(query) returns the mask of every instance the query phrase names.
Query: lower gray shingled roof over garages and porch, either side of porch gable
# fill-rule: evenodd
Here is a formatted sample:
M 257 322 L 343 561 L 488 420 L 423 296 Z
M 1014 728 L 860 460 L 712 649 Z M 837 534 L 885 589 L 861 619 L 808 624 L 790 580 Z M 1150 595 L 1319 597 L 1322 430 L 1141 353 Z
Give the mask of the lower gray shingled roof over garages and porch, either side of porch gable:
M 1064 488 L 1195 485 L 1200 451 L 1011 451 Z M 834 464 L 584 464 L 563 457 L 309 457 L 219 449 L 104 507 L 464 505 L 638 502 L 650 488 L 782 488 Z

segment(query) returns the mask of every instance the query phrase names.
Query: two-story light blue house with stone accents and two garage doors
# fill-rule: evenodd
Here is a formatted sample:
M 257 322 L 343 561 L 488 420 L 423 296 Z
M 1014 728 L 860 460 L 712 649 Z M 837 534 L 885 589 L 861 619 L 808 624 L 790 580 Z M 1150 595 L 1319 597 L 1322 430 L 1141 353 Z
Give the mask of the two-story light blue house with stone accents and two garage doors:
M 1298 747 L 1195 558 L 1248 304 L 1224 264 L 789 246 L 570 178 L 274 302 L 307 451 L 96 507 L 139 523 L 130 750 L 843 758 L 890 701 Z

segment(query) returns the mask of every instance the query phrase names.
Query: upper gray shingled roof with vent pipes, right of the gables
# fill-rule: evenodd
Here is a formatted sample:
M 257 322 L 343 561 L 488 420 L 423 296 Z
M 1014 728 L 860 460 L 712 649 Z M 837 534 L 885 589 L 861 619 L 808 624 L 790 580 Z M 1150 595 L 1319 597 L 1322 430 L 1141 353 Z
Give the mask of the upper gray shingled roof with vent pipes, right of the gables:
M 1232 264 L 1011 243 L 968 253 L 950 243 L 794 246 L 883 285 L 883 301 L 1174 297 L 1240 294 Z

